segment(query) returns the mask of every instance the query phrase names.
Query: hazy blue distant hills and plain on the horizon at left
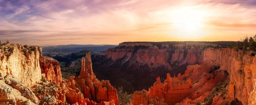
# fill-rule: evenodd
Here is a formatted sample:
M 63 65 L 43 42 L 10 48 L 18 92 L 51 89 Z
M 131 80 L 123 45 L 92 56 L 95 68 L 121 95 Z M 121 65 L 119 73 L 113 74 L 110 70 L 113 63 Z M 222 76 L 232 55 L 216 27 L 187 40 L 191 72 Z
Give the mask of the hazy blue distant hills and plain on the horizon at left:
M 117 45 L 56 45 L 56 46 L 42 46 L 42 53 L 44 56 L 51 54 L 56 55 L 68 55 L 71 53 L 90 50 L 95 53 L 106 51 L 108 48 L 114 48 Z

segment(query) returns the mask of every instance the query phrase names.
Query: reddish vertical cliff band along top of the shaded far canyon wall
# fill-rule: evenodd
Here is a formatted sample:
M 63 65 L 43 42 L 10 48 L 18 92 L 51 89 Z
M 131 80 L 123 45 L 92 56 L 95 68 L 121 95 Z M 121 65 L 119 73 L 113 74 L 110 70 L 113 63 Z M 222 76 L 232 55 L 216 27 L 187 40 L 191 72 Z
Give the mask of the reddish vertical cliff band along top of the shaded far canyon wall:
M 136 46 L 147 46 L 148 48 L 139 49 L 134 54 L 134 47 Z M 195 47 L 197 48 L 195 48 Z M 169 62 L 173 64 L 174 62 L 181 62 L 180 65 L 196 64 L 201 63 L 203 60 L 204 48 L 215 46 L 215 44 L 207 43 L 184 43 L 173 45 L 175 47 L 175 52 L 169 52 L 169 45 L 162 45 L 158 48 L 156 45 L 149 43 L 120 43 L 119 48 L 109 48 L 105 54 L 108 58 L 113 60 L 127 56 L 128 58 L 136 58 L 138 62 L 147 63 L 151 62 L 153 64 L 158 63 L 160 65 L 167 65 Z M 186 55 L 184 52 L 187 52 Z M 102 53 L 101 53 L 102 54 Z M 169 55 L 172 55 L 172 58 L 169 59 Z M 170 61 L 169 61 L 170 60 Z

